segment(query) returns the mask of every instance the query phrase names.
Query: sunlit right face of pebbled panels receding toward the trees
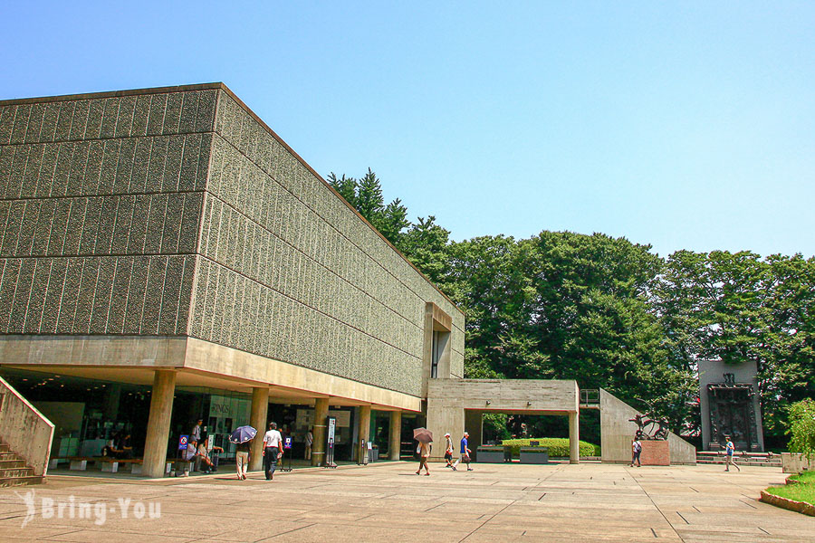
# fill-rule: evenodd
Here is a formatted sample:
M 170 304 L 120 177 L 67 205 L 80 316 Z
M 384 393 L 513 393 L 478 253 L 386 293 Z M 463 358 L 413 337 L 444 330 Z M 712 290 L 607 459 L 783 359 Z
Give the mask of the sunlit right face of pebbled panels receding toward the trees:
M 460 376 L 452 304 L 225 91 L 215 127 L 190 334 L 419 395 L 434 301 Z

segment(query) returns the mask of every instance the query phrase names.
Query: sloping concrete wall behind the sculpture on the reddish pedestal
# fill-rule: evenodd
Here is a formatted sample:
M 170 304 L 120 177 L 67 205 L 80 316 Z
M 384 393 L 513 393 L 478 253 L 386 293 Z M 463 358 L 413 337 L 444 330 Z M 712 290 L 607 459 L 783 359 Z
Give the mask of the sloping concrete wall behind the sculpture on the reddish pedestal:
M 600 448 L 603 462 L 631 462 L 631 440 L 638 426 L 629 421 L 636 409 L 600 389 Z M 695 464 L 696 449 L 676 433 L 668 433 L 672 464 Z

